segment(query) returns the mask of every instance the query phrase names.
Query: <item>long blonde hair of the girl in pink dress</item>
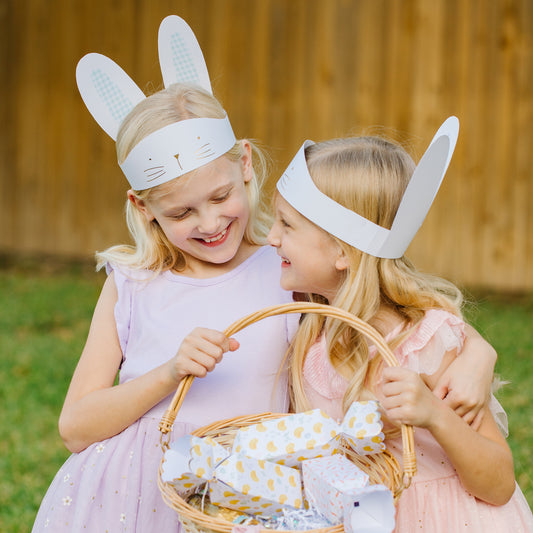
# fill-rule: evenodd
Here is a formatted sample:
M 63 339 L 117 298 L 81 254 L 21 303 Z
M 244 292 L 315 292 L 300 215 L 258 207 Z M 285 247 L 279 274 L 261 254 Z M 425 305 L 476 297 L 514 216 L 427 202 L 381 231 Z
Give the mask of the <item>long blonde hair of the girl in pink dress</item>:
M 334 139 L 309 146 L 306 158 L 311 177 L 324 194 L 390 229 L 415 168 L 401 146 L 379 137 Z M 389 307 L 408 326 L 391 343 L 393 349 L 427 309 L 442 308 L 460 316 L 462 295 L 452 283 L 418 272 L 405 256 L 382 259 L 333 238 L 349 265 L 344 280 L 333 301 L 308 295 L 310 300 L 330 303 L 365 321 L 375 318 L 383 305 Z M 379 322 L 374 325 L 380 330 Z M 303 386 L 303 363 L 310 346 L 323 332 L 331 364 L 348 381 L 344 411 L 355 400 L 374 397 L 381 358 L 371 359 L 365 338 L 346 324 L 309 314 L 302 319 L 289 359 L 291 400 L 296 411 L 311 408 Z

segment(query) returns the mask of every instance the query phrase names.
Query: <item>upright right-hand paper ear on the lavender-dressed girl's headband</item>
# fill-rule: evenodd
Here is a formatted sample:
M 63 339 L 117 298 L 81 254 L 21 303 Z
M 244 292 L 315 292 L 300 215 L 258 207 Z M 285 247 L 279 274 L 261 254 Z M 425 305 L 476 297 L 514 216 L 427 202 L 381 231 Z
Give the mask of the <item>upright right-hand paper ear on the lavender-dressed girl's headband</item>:
M 189 25 L 171 15 L 159 26 L 159 64 L 165 87 L 185 82 L 213 93 L 202 50 Z

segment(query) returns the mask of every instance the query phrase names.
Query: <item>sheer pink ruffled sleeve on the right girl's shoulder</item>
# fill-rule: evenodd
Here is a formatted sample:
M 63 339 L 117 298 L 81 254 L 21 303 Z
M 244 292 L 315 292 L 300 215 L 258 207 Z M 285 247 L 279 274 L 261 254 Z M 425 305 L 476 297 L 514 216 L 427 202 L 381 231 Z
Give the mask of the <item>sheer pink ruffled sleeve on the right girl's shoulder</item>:
M 465 341 L 465 324 L 442 309 L 430 309 L 415 331 L 395 351 L 401 366 L 419 374 L 434 374 L 446 352 L 460 353 Z

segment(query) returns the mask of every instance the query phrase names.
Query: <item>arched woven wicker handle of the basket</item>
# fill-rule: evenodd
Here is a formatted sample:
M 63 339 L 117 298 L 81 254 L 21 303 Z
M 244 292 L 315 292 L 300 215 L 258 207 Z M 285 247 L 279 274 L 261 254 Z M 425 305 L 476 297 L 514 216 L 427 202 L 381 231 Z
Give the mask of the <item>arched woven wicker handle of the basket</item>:
M 391 349 L 383 339 L 383 337 L 369 324 L 361 320 L 360 318 L 339 309 L 331 305 L 315 304 L 310 302 L 294 302 L 288 304 L 273 305 L 271 307 L 265 307 L 251 313 L 240 320 L 237 320 L 224 330 L 224 334 L 227 337 L 231 337 L 246 326 L 253 324 L 263 318 L 269 316 L 282 315 L 285 313 L 316 313 L 319 315 L 328 316 L 342 320 L 349 324 L 354 329 L 365 335 L 376 346 L 378 352 L 381 354 L 385 362 L 389 366 L 399 366 L 396 356 L 392 353 Z M 181 380 L 176 393 L 165 414 L 161 418 L 159 423 L 159 430 L 161 431 L 161 446 L 163 450 L 168 448 L 168 440 L 170 438 L 170 431 L 178 411 L 185 399 L 185 395 L 191 388 L 194 376 L 187 376 Z M 402 441 L 403 441 L 403 475 L 404 475 L 404 487 L 407 488 L 411 483 L 412 477 L 416 473 L 416 456 L 414 451 L 414 435 L 412 426 L 402 425 Z M 165 440 L 166 437 L 166 440 Z

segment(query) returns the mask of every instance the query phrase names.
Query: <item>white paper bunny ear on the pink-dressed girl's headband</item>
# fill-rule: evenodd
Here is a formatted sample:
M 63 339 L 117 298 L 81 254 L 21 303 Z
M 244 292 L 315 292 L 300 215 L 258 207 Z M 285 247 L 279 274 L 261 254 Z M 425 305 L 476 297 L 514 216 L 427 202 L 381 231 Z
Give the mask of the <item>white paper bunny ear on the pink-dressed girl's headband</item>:
M 459 120 L 449 117 L 438 129 L 411 176 L 380 257 L 396 258 L 405 253 L 437 195 L 458 135 Z

